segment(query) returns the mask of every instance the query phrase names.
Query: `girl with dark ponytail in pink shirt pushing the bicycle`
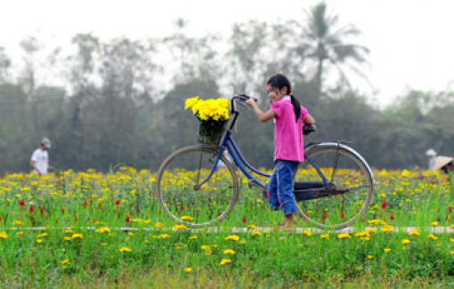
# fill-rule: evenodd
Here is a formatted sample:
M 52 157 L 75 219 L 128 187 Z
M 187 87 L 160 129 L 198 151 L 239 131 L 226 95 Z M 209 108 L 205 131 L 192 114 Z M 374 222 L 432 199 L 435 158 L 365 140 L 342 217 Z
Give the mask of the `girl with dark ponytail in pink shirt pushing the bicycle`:
M 272 76 L 266 83 L 268 96 L 272 100 L 270 110 L 263 112 L 255 100 L 247 100 L 255 116 L 262 122 L 275 119 L 274 167 L 268 182 L 269 202 L 272 210 L 282 210 L 284 220 L 280 229 L 294 230 L 298 212 L 293 196 L 293 177 L 299 163 L 304 161 L 303 124 L 315 124 L 306 108 L 292 95 L 288 78 L 281 74 Z

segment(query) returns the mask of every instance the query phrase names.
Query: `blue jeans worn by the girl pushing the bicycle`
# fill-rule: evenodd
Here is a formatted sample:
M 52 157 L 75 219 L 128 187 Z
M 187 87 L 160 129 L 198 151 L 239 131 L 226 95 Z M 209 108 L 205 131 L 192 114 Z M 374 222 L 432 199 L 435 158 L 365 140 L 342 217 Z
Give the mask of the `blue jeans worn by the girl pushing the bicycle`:
M 298 162 L 276 160 L 272 177 L 268 182 L 268 201 L 272 210 L 281 209 L 285 216 L 298 213 L 295 197 L 293 197 L 293 176 Z

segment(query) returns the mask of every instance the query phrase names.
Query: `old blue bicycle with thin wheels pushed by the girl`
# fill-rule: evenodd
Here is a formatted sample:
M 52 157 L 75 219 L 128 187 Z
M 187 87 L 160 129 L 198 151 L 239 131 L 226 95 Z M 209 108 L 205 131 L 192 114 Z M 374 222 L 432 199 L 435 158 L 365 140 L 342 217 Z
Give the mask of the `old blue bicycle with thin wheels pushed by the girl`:
M 230 124 L 217 145 L 178 149 L 160 166 L 159 205 L 174 221 L 191 227 L 223 221 L 239 201 L 244 177 L 249 188 L 258 188 L 267 197 L 266 187 L 249 171 L 264 178 L 271 175 L 249 165 L 231 135 L 239 117 L 237 103 L 247 99 L 245 94 L 231 98 Z M 315 126 L 304 126 L 305 135 L 315 131 Z M 343 229 L 366 212 L 376 183 L 358 152 L 344 141 L 310 142 L 304 146 L 304 159 L 294 177 L 300 217 L 320 229 Z

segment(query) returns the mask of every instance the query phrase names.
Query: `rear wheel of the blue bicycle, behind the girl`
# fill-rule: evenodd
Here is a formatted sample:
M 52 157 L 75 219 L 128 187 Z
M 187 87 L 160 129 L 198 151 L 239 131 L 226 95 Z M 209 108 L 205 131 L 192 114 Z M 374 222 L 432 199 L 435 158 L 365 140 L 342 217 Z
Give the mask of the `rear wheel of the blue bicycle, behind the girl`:
M 321 143 L 305 152 L 328 181 L 330 189 L 314 190 L 319 198 L 298 202 L 300 216 L 320 229 L 343 229 L 351 225 L 370 205 L 374 178 L 366 161 L 353 149 L 337 143 Z M 309 161 L 296 171 L 294 181 L 322 181 Z M 303 195 L 297 195 L 304 198 Z

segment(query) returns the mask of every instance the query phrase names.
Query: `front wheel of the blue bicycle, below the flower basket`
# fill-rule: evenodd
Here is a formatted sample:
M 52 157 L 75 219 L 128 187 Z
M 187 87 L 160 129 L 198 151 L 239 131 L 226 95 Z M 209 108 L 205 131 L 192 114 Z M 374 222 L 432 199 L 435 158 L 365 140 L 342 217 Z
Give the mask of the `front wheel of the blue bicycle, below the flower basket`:
M 217 147 L 187 147 L 175 151 L 159 168 L 159 204 L 174 221 L 208 226 L 231 213 L 239 199 L 234 166 L 222 156 L 207 180 L 217 154 Z

